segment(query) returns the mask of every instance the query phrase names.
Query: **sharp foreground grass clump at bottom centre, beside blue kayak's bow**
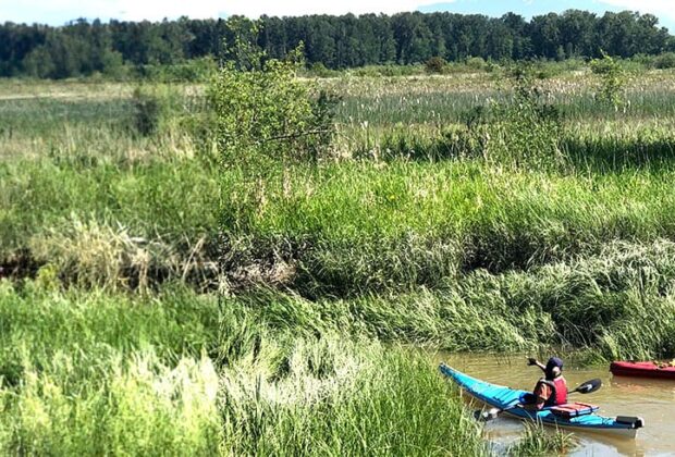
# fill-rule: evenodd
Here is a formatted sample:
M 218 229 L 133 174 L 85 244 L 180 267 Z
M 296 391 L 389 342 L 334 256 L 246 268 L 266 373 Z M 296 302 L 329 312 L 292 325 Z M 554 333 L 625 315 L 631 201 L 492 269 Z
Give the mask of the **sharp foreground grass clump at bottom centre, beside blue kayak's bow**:
M 293 349 L 280 365 L 277 376 L 283 378 L 279 381 L 244 378 L 238 388 L 226 382 L 230 452 L 462 455 L 483 450 L 479 429 L 465 415 L 456 392 L 428 361 L 371 344 L 354 349 L 344 343 L 328 345 L 334 349 L 323 353 L 323 360 L 331 357 L 342 362 L 334 366 L 334 374 L 321 368 L 324 365 L 317 366 L 320 359 L 312 343 L 303 345 L 315 353 L 309 359 L 298 353 L 306 349 Z M 253 403 L 253 398 L 258 399 Z

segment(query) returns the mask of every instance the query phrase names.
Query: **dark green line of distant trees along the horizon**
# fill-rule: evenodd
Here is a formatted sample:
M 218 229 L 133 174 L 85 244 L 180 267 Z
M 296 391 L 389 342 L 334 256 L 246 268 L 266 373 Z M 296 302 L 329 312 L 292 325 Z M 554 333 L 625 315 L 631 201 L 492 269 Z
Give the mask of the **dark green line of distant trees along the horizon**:
M 229 20 L 151 22 L 78 20 L 60 27 L 0 25 L 0 76 L 63 78 L 95 72 L 115 74 L 134 65 L 180 64 L 202 57 L 228 58 Z M 308 64 L 329 69 L 414 64 L 432 57 L 459 61 L 592 58 L 602 51 L 622 58 L 675 51 L 675 38 L 650 14 L 569 10 L 530 21 L 508 13 L 494 18 L 452 13 L 392 16 L 262 16 L 258 45 L 282 58 L 298 42 Z

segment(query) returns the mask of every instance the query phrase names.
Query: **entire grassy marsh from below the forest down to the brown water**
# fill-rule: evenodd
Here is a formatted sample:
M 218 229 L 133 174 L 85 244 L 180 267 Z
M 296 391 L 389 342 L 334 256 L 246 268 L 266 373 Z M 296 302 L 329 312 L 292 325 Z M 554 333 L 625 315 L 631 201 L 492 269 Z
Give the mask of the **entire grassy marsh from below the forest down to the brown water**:
M 0 83 L 0 448 L 486 454 L 429 351 L 675 356 L 675 73 L 535 83 L 554 143 L 493 73 L 320 79 L 330 153 L 255 181 L 204 85 Z

